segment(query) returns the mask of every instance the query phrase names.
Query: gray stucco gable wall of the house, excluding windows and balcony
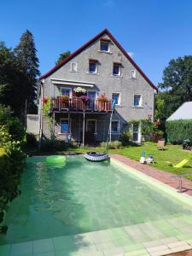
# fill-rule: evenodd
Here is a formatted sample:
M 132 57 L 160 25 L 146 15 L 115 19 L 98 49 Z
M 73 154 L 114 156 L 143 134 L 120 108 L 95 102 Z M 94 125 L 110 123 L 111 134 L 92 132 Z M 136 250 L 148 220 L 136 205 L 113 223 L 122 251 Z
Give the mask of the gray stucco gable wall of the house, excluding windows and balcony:
M 108 40 L 108 52 L 101 50 L 101 39 Z M 97 72 L 89 73 L 89 61 L 96 60 Z M 72 62 L 77 63 L 77 72 L 72 72 Z M 113 75 L 113 63 L 120 63 L 120 75 Z M 131 77 L 134 71 L 136 77 Z M 119 131 L 112 132 L 112 140 L 119 138 L 126 122 L 131 119 L 146 119 L 150 115 L 154 117 L 154 87 L 148 83 L 137 68 L 127 59 L 125 54 L 113 42 L 113 39 L 104 32 L 101 37 L 74 55 L 55 72 L 41 79 L 41 97 L 57 97 L 61 95 L 61 88 L 73 89 L 76 84 L 86 90 L 96 90 L 96 96 L 105 94 L 112 99 L 113 93 L 119 94 L 119 105 L 115 106 L 113 120 L 119 120 Z M 43 95 L 42 95 L 43 94 Z M 134 95 L 141 97 L 141 105 L 134 106 Z M 41 104 L 39 104 L 39 113 Z M 96 141 L 105 141 L 108 137 L 109 113 L 85 113 L 85 130 L 87 119 L 96 120 Z M 61 119 L 69 119 L 69 132 L 76 141 L 82 140 L 83 113 L 55 113 L 55 127 L 53 131 L 58 139 L 65 139 L 66 134 L 61 132 Z M 42 120 L 42 132 L 44 137 L 50 137 L 49 125 L 45 117 Z M 140 141 L 138 136 L 137 141 Z

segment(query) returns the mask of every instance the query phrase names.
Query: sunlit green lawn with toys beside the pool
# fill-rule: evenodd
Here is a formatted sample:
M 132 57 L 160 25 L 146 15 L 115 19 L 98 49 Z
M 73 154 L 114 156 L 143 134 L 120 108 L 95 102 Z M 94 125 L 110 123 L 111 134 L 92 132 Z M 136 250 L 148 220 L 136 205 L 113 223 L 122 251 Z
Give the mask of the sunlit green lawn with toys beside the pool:
M 142 151 L 146 152 L 146 156 L 148 154 L 152 154 L 154 156 L 155 164 L 152 164 L 157 169 L 172 172 L 172 173 L 188 173 L 192 172 L 192 154 L 190 152 L 183 151 L 181 145 L 166 145 L 166 150 L 157 149 L 156 143 L 145 143 L 143 146 L 131 146 L 125 147 L 121 149 L 110 149 L 109 153 L 114 154 L 122 154 L 126 157 L 129 157 L 133 160 L 140 160 Z M 103 148 L 77 148 L 73 149 L 75 152 L 86 152 L 86 151 L 102 151 Z M 183 168 L 177 169 L 172 166 L 167 165 L 166 161 L 172 162 L 173 165 L 177 164 L 184 158 L 188 158 L 189 162 Z M 189 177 L 192 180 L 192 177 Z

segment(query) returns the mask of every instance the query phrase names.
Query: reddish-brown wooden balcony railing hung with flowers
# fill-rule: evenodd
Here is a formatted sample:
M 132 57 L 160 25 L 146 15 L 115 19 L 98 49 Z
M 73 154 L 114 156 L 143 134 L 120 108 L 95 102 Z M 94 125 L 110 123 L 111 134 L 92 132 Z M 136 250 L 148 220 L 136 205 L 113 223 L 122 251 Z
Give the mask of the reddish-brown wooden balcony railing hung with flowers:
M 63 99 L 62 96 L 51 98 L 51 110 L 66 111 L 93 111 L 93 112 L 110 112 L 112 100 L 102 102 L 100 100 L 88 99 L 84 100 L 79 97 L 70 97 Z

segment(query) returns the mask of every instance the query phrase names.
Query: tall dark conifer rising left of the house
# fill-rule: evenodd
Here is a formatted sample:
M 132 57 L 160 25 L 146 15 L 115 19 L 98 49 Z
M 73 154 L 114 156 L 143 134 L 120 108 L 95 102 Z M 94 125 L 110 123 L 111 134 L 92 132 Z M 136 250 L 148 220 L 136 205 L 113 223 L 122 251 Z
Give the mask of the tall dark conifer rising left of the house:
M 20 38 L 20 44 L 15 47 L 15 55 L 18 60 L 20 71 L 26 76 L 25 83 L 28 113 L 34 111 L 37 96 L 37 82 L 40 72 L 38 70 L 38 56 L 35 48 L 34 38 L 32 32 L 26 30 Z

